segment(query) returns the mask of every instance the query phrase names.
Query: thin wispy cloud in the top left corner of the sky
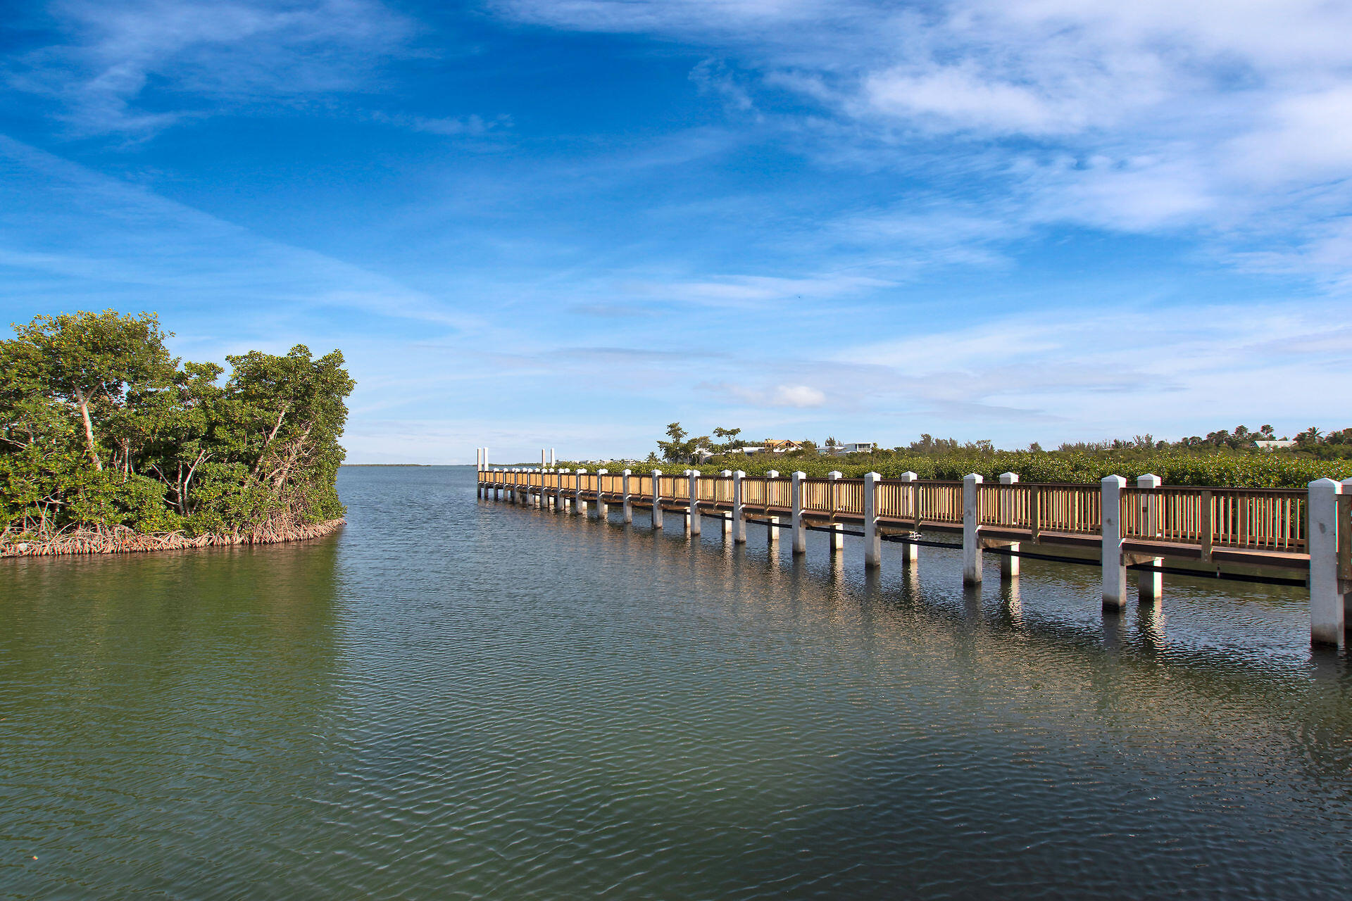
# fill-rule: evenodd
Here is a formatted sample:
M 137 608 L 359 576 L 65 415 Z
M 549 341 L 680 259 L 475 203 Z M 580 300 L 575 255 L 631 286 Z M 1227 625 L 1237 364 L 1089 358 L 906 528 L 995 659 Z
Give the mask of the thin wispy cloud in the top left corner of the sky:
M 74 135 L 143 138 L 222 107 L 369 85 L 412 24 L 377 0 L 58 0 L 66 41 L 9 59 Z

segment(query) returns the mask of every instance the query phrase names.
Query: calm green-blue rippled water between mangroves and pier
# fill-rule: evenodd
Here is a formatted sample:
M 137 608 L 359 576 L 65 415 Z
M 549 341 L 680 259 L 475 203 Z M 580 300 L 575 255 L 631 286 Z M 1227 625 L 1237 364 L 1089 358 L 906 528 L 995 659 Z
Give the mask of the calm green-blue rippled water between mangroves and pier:
M 341 492 L 308 544 L 0 563 L 0 897 L 1352 892 L 1303 592 L 1105 623 L 1088 567 Z

